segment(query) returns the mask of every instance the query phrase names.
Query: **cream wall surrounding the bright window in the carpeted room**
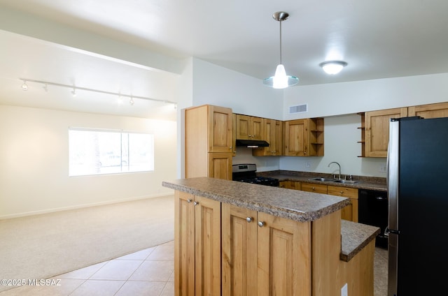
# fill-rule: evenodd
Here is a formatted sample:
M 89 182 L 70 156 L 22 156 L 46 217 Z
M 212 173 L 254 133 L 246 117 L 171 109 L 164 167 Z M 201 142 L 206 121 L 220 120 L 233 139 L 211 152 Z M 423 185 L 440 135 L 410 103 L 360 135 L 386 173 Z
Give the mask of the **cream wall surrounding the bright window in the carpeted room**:
M 69 177 L 68 128 L 153 133 L 155 171 Z M 0 105 L 0 219 L 172 194 L 176 122 Z

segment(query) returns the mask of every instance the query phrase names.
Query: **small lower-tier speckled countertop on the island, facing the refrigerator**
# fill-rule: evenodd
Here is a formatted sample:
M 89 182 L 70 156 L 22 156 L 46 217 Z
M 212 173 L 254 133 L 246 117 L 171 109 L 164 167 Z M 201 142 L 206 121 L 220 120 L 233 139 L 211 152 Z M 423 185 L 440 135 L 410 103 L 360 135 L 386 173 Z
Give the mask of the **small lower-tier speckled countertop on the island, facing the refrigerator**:
M 340 259 L 349 262 L 379 235 L 378 227 L 341 220 L 342 251 Z

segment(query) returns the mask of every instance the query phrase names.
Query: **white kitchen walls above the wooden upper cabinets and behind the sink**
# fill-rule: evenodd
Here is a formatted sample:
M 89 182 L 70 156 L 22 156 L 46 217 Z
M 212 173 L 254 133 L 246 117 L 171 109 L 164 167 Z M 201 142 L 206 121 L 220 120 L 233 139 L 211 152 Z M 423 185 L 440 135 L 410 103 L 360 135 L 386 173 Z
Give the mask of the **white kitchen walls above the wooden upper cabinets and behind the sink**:
M 448 101 L 448 73 L 358 82 L 270 89 L 261 80 L 193 59 L 193 105 L 211 104 L 233 112 L 280 120 L 325 117 L 325 156 L 254 157 L 238 147 L 233 163 L 255 163 L 258 171 L 300 170 L 386 177 L 386 158 L 360 158 L 360 116 L 357 112 Z M 291 105 L 307 103 L 309 112 L 288 114 Z M 309 165 L 309 167 L 307 166 Z

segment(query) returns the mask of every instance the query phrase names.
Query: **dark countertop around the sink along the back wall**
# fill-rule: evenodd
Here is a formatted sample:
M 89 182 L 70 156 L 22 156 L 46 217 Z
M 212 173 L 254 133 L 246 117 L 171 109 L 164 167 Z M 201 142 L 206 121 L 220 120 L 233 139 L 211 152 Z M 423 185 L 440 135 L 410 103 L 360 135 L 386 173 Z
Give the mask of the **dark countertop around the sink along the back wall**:
M 314 184 L 325 184 L 332 186 L 343 186 L 358 189 L 370 189 L 377 191 L 387 191 L 386 178 L 381 177 L 365 177 L 365 176 L 353 176 L 353 180 L 358 181 L 356 184 L 342 184 L 335 182 L 322 182 L 317 180 L 310 180 L 310 178 L 325 177 L 332 178 L 332 174 L 316 173 L 316 172 L 296 172 L 290 170 L 274 170 L 267 172 L 257 172 L 258 176 L 272 177 L 282 181 L 294 181 L 294 182 L 307 182 Z

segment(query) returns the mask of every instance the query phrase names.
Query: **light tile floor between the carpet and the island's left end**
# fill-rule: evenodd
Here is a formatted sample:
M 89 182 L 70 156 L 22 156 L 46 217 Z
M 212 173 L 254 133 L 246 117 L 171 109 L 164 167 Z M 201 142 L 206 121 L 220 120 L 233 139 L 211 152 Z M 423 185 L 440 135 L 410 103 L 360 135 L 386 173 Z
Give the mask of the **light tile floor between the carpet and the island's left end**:
M 55 276 L 59 286 L 22 286 L 0 296 L 173 296 L 174 242 Z

